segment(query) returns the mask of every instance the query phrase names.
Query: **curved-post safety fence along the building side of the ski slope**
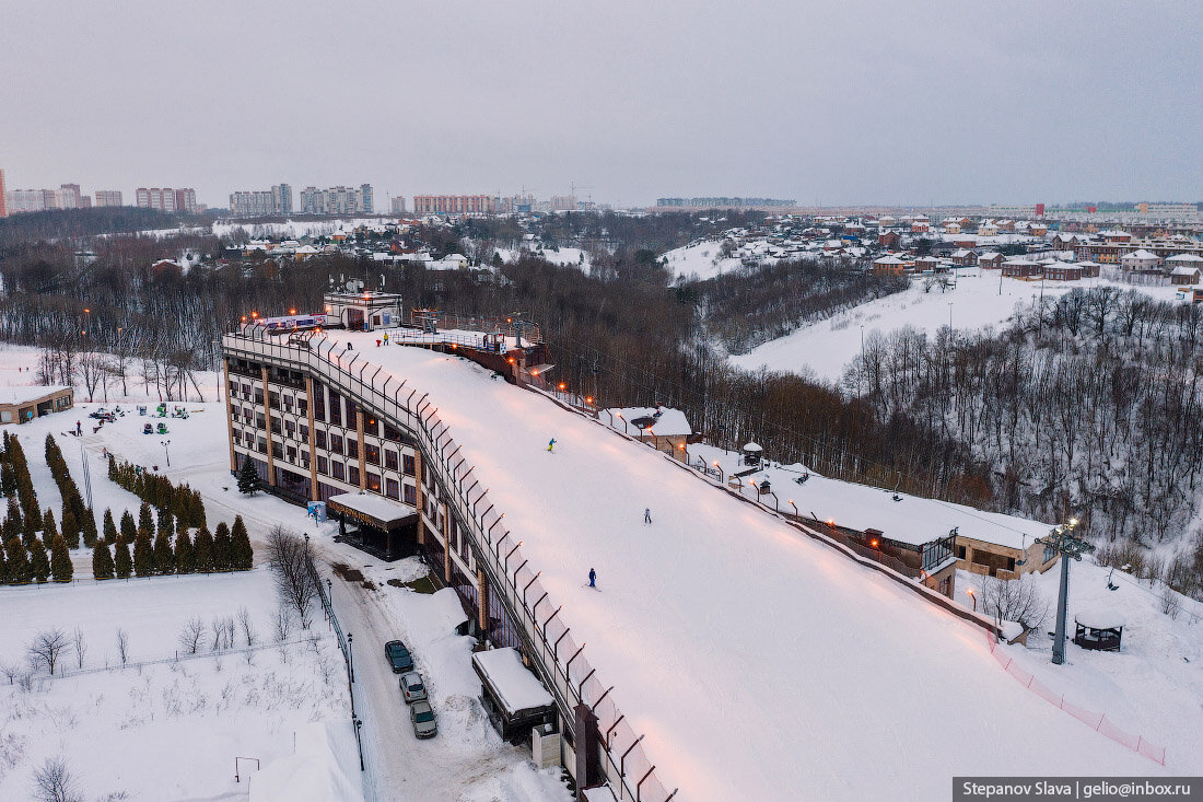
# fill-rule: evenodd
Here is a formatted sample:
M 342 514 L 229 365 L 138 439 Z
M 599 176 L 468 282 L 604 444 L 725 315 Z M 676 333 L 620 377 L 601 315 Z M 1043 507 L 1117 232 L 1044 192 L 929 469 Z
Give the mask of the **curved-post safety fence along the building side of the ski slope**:
M 573 632 L 570 614 L 551 598 L 538 566 L 522 555 L 522 537 L 505 527 L 503 511 L 472 476 L 475 466 L 460 453 L 460 444 L 428 393 L 326 338 L 314 337 L 300 344 L 245 326 L 225 335 L 221 346 L 226 355 L 292 368 L 304 366 L 363 408 L 411 432 L 422 454 L 422 470 L 431 472 L 442 501 L 456 511 L 475 542 L 478 567 L 497 589 L 520 630 L 525 650 L 563 713 L 565 729 L 574 731 L 575 744 L 582 742 L 583 733 L 575 732 L 573 712 L 583 706 L 597 719 L 600 773 L 620 802 L 669 802 L 676 796 L 676 789 L 669 791 L 657 777 L 656 763 L 644 749 L 644 733 L 618 708 L 611 694 L 614 686 L 603 682 L 583 654 L 585 642 L 580 632 Z M 571 754 L 565 744 L 565 757 Z

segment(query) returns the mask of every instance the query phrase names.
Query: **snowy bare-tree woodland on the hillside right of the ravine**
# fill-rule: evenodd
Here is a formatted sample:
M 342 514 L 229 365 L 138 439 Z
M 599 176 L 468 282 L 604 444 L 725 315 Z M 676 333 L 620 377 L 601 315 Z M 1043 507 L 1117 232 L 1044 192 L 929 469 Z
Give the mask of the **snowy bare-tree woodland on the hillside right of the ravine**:
M 1104 554 L 1197 537 L 1189 529 L 1203 483 L 1198 306 L 1074 290 L 998 332 L 870 337 L 845 383 L 877 419 L 907 415 L 972 448 L 995 509 L 1077 515 L 1110 547 Z

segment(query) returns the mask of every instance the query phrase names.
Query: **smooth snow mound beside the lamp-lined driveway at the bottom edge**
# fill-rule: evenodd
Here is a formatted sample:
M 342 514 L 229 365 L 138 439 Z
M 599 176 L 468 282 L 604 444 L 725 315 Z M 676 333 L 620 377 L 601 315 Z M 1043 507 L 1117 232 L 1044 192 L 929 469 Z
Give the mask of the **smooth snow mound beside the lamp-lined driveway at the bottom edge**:
M 307 724 L 296 751 L 250 776 L 250 802 L 362 802 L 360 765 L 350 723 Z

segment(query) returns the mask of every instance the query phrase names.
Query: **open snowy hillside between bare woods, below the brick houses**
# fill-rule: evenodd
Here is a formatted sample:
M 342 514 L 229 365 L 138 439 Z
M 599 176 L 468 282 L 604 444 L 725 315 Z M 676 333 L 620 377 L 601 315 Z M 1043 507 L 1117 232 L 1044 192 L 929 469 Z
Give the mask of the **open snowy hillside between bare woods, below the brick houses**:
M 941 293 L 938 288 L 932 288 L 925 293 L 923 279 L 915 278 L 911 289 L 905 293 L 876 299 L 804 326 L 747 354 L 731 356 L 730 364 L 746 370 L 766 367 L 780 372 L 798 372 L 807 366 L 820 379 L 838 382 L 845 367 L 860 353 L 861 326 L 866 340 L 875 334 L 889 335 L 903 326 L 935 335 L 948 325 L 952 313 L 953 329 L 956 331 L 998 328 L 1014 314 L 1017 305 L 1032 305 L 1042 291 L 1041 282 L 1018 278 L 1001 281 L 1000 294 L 997 271 L 971 267 L 958 275 L 956 289 Z M 1055 297 L 1073 289 L 1091 287 L 1132 289 L 1162 301 L 1172 301 L 1177 291 L 1173 287 L 1137 287 L 1089 278 L 1078 282 L 1044 282 L 1043 293 L 1045 297 Z

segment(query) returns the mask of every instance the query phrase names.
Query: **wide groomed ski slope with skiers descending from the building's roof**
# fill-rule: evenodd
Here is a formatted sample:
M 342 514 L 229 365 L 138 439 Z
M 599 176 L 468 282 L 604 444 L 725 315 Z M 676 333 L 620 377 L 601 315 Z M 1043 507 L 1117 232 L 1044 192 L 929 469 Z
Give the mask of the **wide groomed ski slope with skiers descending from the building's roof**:
M 931 800 L 954 774 L 1203 767 L 1095 733 L 1002 672 L 980 629 L 645 446 L 466 360 L 330 336 L 429 391 L 680 798 Z

